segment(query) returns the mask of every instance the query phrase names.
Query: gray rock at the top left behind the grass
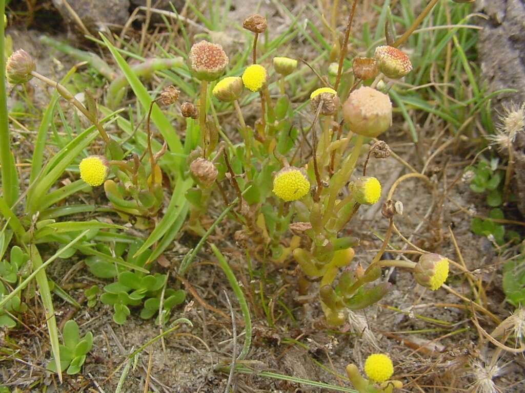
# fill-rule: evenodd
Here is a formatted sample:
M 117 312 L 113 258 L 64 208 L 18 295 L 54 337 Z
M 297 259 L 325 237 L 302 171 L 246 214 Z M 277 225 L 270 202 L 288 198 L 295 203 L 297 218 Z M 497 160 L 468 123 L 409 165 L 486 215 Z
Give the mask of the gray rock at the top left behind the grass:
M 75 13 L 82 24 L 96 37 L 98 31 L 115 29 L 116 26 L 122 26 L 129 18 L 129 0 L 53 0 L 53 4 L 72 28 L 83 33 Z

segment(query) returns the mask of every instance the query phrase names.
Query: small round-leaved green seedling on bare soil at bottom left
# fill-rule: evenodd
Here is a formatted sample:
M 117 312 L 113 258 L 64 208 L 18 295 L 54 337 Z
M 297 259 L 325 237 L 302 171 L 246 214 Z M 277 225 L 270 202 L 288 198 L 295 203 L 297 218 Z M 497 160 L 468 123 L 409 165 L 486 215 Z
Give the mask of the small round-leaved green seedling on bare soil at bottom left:
M 66 371 L 68 375 L 78 374 L 86 360 L 86 355 L 93 346 L 93 334 L 87 332 L 80 337 L 78 325 L 75 321 L 67 321 L 62 330 L 63 345 L 59 346 L 60 369 Z M 47 364 L 47 369 L 57 372 L 55 359 Z

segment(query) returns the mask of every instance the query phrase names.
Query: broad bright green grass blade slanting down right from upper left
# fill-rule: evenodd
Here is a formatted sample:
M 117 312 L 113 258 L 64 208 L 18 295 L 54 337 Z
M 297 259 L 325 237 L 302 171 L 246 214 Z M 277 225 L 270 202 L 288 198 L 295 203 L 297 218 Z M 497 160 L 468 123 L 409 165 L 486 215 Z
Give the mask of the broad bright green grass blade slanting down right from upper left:
M 129 64 L 124 60 L 119 51 L 113 45 L 111 45 L 111 42 L 109 42 L 108 39 L 102 34 L 101 37 L 104 40 L 104 43 L 106 43 L 106 46 L 113 55 L 113 58 L 119 65 L 120 69 L 124 73 L 126 79 L 128 79 L 128 83 L 130 84 L 131 89 L 133 90 L 135 95 L 137 96 L 137 99 L 144 107 L 144 110 L 148 111 L 152 101 L 150 95 L 148 94 L 148 90 L 146 90 L 146 88 L 139 80 L 137 75 L 133 73 Z M 182 155 L 183 148 L 181 140 L 178 138 L 175 129 L 171 125 L 171 122 L 166 118 L 166 116 L 164 116 L 160 108 L 156 105 L 153 106 L 153 110 L 151 112 L 151 119 L 159 129 L 159 132 L 162 134 L 163 138 L 166 140 L 170 151 L 174 152 L 175 154 Z M 182 166 L 182 159 L 176 158 L 176 163 L 177 164 L 173 169 L 175 172 L 180 172 Z

